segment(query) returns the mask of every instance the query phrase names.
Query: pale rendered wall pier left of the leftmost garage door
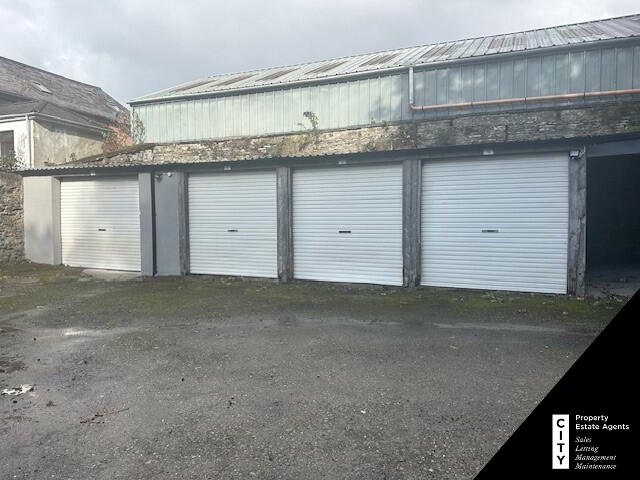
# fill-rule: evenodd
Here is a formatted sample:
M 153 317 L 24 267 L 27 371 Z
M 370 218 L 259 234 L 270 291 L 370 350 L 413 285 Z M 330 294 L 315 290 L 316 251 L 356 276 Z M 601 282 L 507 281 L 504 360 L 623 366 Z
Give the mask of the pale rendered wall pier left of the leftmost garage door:
M 25 257 L 36 263 L 59 265 L 60 180 L 55 177 L 25 177 L 24 250 Z

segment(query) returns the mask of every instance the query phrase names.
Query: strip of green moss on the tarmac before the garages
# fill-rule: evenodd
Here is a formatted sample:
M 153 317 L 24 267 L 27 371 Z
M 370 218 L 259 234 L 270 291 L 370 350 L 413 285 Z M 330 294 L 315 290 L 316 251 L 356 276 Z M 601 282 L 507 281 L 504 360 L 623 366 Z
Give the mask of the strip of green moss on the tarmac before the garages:
M 25 280 L 26 279 L 26 280 Z M 327 315 L 428 314 L 514 319 L 605 321 L 622 306 L 616 299 L 485 292 L 448 288 L 403 289 L 231 277 L 186 276 L 105 282 L 80 269 L 17 264 L 0 275 L 0 313 L 71 305 L 73 315 L 193 318 L 278 315 L 319 310 Z

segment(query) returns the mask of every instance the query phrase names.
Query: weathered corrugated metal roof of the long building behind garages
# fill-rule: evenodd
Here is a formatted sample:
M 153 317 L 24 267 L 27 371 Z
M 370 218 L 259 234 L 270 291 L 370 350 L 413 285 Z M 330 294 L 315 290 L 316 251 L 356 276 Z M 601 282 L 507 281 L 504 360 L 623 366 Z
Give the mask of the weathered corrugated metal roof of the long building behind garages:
M 395 67 L 429 65 L 464 58 L 637 36 L 640 36 L 640 14 L 525 32 L 401 48 L 300 65 L 214 75 L 206 79 L 184 83 L 139 97 L 131 103 L 144 103 L 148 100 L 170 99 L 186 95 L 215 94 L 238 89 L 286 85 L 288 83 L 339 77 L 353 73 L 375 72 Z

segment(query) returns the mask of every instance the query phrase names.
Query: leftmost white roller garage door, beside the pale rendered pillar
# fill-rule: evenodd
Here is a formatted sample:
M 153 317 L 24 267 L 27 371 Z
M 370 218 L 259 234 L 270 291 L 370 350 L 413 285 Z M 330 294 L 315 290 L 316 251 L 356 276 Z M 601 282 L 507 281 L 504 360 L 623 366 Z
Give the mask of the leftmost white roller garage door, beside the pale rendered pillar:
M 140 271 L 138 177 L 64 179 L 60 245 L 65 265 Z

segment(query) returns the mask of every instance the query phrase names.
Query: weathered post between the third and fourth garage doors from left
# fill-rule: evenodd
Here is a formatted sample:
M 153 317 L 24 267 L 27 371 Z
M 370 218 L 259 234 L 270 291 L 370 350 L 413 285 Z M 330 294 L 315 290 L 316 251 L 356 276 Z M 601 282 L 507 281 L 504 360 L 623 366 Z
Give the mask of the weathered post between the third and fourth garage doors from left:
M 403 285 L 420 285 L 420 202 L 422 161 L 402 162 L 402 256 Z

